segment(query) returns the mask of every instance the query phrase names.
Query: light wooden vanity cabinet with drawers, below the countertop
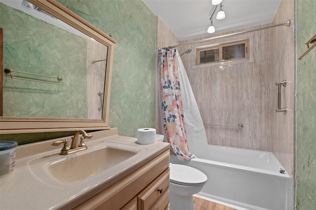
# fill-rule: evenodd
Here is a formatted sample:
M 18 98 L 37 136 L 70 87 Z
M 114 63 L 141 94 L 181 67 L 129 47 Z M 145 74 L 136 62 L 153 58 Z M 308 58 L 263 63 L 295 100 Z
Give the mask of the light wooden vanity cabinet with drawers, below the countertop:
M 169 149 L 74 210 L 168 210 Z

